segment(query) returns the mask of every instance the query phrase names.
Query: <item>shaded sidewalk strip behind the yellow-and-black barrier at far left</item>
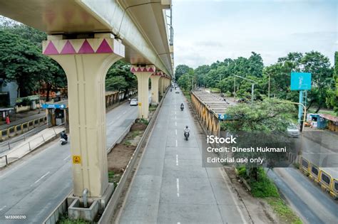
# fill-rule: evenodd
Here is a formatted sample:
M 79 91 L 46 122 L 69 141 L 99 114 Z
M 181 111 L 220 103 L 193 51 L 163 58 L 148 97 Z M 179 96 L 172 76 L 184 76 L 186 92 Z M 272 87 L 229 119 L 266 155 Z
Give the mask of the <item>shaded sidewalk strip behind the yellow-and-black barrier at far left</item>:
M 38 112 L 39 110 L 30 110 L 29 112 L 12 114 L 9 117 L 11 119 L 11 124 L 6 124 L 6 121 L 0 121 L 0 130 L 46 116 L 45 110 L 41 110 L 40 113 Z

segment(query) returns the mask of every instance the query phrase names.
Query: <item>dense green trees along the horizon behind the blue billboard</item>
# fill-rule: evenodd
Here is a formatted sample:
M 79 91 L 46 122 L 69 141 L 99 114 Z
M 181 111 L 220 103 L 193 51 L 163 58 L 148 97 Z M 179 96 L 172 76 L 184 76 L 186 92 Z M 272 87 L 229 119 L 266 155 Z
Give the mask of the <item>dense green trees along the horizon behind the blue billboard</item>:
M 176 71 L 182 75 L 188 74 L 188 70 L 187 65 L 178 65 L 176 68 Z M 285 57 L 278 58 L 276 63 L 266 67 L 260 54 L 252 52 L 249 58 L 226 58 L 223 61 L 217 60 L 211 65 L 200 65 L 190 73 L 190 76 L 182 78 L 181 82 L 183 88 L 187 87 L 186 90 L 191 88 L 188 80 L 190 82 L 195 80 L 199 87 L 216 87 L 227 95 L 233 95 L 235 81 L 236 96 L 249 99 L 252 82 L 234 78 L 234 75 L 239 75 L 256 82 L 255 100 L 263 100 L 268 95 L 270 78 L 270 96 L 297 102 L 299 92 L 290 90 L 290 74 L 294 71 L 312 73 L 312 90 L 308 91 L 307 107 L 315 105 L 317 111 L 325 105 L 337 107 L 334 106 L 337 100 L 333 97 L 334 70 L 329 63 L 329 58 L 317 51 L 304 54 L 288 53 Z

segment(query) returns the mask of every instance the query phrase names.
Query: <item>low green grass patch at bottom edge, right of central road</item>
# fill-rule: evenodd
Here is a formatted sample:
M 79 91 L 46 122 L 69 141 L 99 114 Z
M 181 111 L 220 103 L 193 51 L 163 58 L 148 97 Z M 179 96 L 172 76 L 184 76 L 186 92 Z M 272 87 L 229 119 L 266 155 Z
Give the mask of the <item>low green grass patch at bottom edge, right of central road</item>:
M 281 198 L 265 198 L 265 201 L 272 207 L 285 223 L 302 224 L 299 217 L 289 208 Z

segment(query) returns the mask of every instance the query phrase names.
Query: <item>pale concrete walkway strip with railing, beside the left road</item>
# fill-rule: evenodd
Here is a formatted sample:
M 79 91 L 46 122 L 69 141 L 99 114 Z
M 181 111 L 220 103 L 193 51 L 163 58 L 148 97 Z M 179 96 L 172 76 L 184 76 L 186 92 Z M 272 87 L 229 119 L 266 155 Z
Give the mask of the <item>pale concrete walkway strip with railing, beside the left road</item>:
M 21 144 L 18 144 L 10 151 L 6 151 L 6 153 L 1 155 L 0 168 L 6 166 L 6 162 L 10 164 L 18 159 L 21 159 L 26 154 L 29 154 L 30 151 L 33 151 L 46 142 L 53 140 L 54 137 L 63 131 L 63 129 L 64 127 L 60 126 L 43 129 L 41 132 L 27 138 L 25 142 L 21 142 Z M 5 155 L 7 155 L 7 161 Z

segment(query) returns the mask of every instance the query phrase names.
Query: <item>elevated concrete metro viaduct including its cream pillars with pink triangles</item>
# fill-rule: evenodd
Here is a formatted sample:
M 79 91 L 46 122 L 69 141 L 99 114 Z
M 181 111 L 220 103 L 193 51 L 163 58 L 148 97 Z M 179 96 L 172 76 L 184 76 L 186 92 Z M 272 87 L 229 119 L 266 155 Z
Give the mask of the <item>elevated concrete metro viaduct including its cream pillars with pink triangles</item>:
M 48 33 L 43 54 L 68 80 L 73 195 L 107 198 L 105 78 L 123 58 L 138 78 L 138 117 L 148 119 L 148 79 L 158 102 L 173 78 L 170 0 L 0 0 L 0 14 Z M 171 24 L 169 24 L 170 29 Z

